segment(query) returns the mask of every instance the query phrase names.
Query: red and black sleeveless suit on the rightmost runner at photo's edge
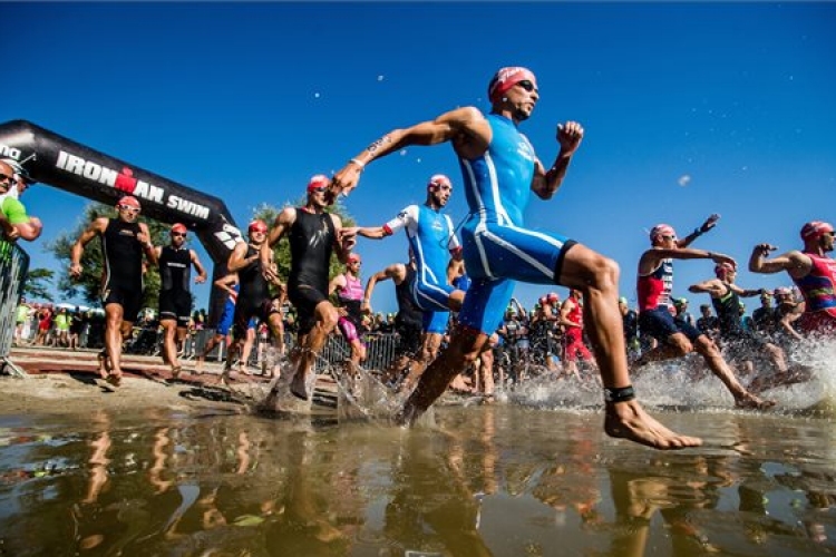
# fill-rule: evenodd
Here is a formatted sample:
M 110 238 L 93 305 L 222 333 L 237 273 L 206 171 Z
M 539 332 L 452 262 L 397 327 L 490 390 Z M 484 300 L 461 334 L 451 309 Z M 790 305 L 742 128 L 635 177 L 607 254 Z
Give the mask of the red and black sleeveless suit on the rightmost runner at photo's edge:
M 806 253 L 813 262 L 810 272 L 793 278 L 806 302 L 798 328 L 806 332 L 836 333 L 836 261 Z

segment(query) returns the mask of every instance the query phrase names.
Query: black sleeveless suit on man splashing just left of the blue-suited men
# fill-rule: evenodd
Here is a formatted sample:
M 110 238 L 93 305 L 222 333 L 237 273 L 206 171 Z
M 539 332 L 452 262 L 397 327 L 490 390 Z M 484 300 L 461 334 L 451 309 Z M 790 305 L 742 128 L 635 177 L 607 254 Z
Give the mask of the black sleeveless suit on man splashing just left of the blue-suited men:
M 337 242 L 331 215 L 298 208 L 289 240 L 288 297 L 298 311 L 299 333 L 307 334 L 315 324 L 317 305 L 328 300 L 328 270 Z

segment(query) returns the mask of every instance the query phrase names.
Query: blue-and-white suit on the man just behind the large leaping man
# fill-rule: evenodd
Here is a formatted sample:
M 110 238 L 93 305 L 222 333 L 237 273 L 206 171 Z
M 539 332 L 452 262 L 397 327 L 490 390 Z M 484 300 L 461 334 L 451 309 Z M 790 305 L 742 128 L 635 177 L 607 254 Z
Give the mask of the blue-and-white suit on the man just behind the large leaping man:
M 424 311 L 424 330 L 444 333 L 447 329 L 447 313 L 450 311 L 448 300 L 455 290 L 447 284 L 447 263 L 450 252 L 460 247 L 453 222 L 440 211 L 426 205 L 410 205 L 383 225 L 387 234 L 395 234 L 401 228 L 407 232 L 418 266 L 412 297 Z

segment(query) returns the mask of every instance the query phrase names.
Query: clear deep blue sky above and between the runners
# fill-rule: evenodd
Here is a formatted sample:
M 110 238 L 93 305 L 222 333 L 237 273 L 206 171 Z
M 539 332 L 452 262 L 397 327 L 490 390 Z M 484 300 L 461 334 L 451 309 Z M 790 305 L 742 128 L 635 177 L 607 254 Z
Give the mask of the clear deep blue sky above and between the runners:
M 297 199 L 311 175 L 383 131 L 457 106 L 487 109 L 490 76 L 512 65 L 538 78 L 522 129 L 544 164 L 557 123 L 586 130 L 562 189 L 535 198 L 527 224 L 615 258 L 631 301 L 657 223 L 686 234 L 720 213 L 694 247 L 746 267 L 756 243 L 797 248 L 805 222 L 836 221 L 836 3 L 0 6 L 22 30 L 0 37 L 0 121 L 30 120 L 216 195 L 239 225 L 261 203 Z M 382 224 L 422 202 L 436 173 L 460 186 L 449 146 L 409 148 L 370 165 L 347 208 Z M 43 240 L 74 227 L 88 203 L 46 186 L 23 201 L 45 221 Z M 465 216 L 460 188 L 448 211 Z M 26 247 L 35 266 L 57 268 L 41 241 Z M 406 238 L 358 251 L 368 276 L 402 261 Z M 712 266 L 678 263 L 674 294 Z M 738 283 L 789 281 L 743 270 Z M 375 309 L 393 310 L 391 289 L 378 290 Z M 519 285 L 517 297 L 531 305 L 547 290 Z M 205 305 L 208 289 L 196 293 Z

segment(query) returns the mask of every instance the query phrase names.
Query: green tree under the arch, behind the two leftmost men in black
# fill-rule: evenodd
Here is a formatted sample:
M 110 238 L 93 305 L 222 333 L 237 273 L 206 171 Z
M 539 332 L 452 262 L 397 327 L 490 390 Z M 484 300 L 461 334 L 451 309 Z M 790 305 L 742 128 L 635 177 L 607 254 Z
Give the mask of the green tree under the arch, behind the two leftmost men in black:
M 72 244 L 89 224 L 101 216 L 117 218 L 114 207 L 99 203 L 91 203 L 85 207 L 81 223 L 72 231 L 66 231 L 46 245 L 47 251 L 51 252 L 55 257 L 64 262 L 62 271 L 58 277 L 57 289 L 68 299 L 81 296 L 91 304 L 101 302 L 101 272 L 104 258 L 101 256 L 101 242 L 94 240 L 85 246 L 85 253 L 81 255 L 81 277 L 74 280 L 69 275 L 70 251 Z M 148 225 L 154 245 L 168 244 L 168 225 L 158 221 L 140 216 L 139 221 Z M 159 271 L 156 267 L 148 267 L 145 276 L 145 292 L 143 295 L 143 306 L 157 309 L 159 299 Z

